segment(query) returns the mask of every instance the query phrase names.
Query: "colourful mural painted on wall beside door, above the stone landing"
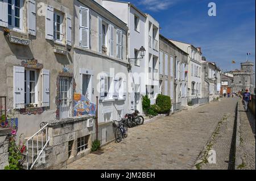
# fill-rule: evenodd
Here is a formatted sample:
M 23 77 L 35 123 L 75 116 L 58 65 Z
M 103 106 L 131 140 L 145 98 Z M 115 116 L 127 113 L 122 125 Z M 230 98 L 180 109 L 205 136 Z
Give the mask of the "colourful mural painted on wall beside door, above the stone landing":
M 74 94 L 74 116 L 96 115 L 96 104 L 82 94 Z

